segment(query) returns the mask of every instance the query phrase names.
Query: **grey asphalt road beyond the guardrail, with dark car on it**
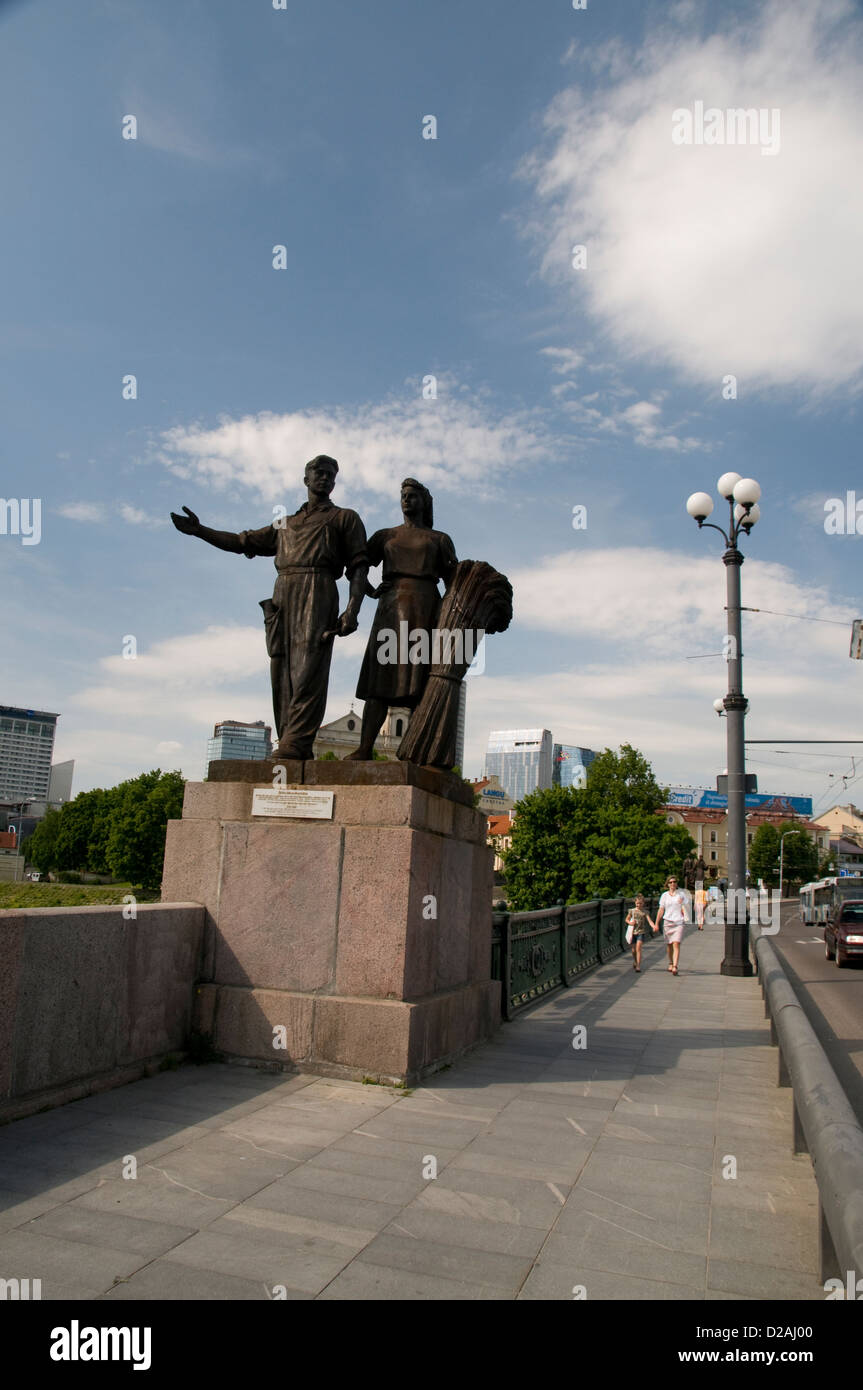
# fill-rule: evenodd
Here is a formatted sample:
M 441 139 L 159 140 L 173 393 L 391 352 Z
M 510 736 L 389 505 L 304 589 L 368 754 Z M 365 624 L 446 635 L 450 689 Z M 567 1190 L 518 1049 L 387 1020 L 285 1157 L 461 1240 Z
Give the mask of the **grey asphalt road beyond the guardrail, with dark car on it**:
M 863 962 L 839 970 L 827 960 L 823 927 L 806 926 L 796 898 L 782 902 L 780 922 L 770 942 L 863 1125 Z

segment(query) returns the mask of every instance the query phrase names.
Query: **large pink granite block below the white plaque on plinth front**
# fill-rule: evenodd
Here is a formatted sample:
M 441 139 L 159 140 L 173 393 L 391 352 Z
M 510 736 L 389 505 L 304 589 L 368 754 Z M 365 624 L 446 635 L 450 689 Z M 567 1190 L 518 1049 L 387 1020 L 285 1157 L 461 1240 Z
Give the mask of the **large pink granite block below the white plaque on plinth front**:
M 220 984 L 332 988 L 343 834 L 321 821 L 224 827 Z

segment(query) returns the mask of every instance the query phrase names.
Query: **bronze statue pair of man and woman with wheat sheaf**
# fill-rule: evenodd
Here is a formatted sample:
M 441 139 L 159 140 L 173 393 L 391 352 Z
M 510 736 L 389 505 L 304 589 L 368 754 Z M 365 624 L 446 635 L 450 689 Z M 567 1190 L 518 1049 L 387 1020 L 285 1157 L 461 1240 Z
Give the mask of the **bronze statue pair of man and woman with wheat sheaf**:
M 357 513 L 329 500 L 338 471 L 338 463 L 328 455 L 311 459 L 304 473 L 307 500 L 293 516 L 279 517 L 257 531 L 213 531 L 188 507 L 185 516 L 172 512 L 171 520 L 183 535 L 197 535 L 220 550 L 275 560 L 272 599 L 261 603 L 278 731 L 275 758 L 313 756 L 327 708 L 335 638 L 356 632 L 360 606 L 368 595 L 378 600 L 378 607 L 357 684 L 357 698 L 364 701 L 360 746 L 350 756 L 371 759 L 388 709 L 400 706 L 414 714 L 409 739 L 402 745 L 406 751 L 400 748 L 399 756 L 452 767 L 457 684 L 466 663 L 456 659 L 460 653 L 452 655 L 452 646 L 442 660 L 439 644 L 435 662 L 417 660 L 422 644 L 414 644 L 414 634 L 431 635 L 442 621 L 443 606 L 459 634 L 475 623 L 472 655 L 481 624 L 482 632 L 509 626 L 513 591 L 491 566 L 459 563 L 449 535 L 434 530 L 431 493 L 416 478 L 402 484 L 402 524 L 367 538 Z M 368 584 L 368 570 L 375 566 L 382 566 L 377 589 Z M 336 580 L 343 574 L 349 598 L 339 614 Z M 393 634 L 396 641 L 386 641 Z M 406 634 L 411 637 L 410 646 L 399 641 Z M 434 645 L 428 641 L 424 649 L 431 652 Z

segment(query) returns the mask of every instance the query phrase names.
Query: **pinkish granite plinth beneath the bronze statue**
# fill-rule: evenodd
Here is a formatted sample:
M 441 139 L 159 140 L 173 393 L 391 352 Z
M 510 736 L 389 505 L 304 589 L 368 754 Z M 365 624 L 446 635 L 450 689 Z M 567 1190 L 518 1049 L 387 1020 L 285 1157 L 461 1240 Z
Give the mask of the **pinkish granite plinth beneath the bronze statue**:
M 163 901 L 206 908 L 200 1030 L 227 1056 L 399 1081 L 488 1037 L 492 852 L 464 783 L 282 763 L 334 792 L 332 820 L 253 816 L 271 766 L 211 763 L 168 824 Z

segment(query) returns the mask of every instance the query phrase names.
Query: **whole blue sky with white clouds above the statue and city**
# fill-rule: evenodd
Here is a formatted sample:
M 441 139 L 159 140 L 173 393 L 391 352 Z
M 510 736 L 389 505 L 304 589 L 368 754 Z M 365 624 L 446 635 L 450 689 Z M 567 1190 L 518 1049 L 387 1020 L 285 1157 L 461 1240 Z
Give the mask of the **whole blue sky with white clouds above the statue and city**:
M 317 452 L 370 531 L 417 475 L 513 580 L 468 776 L 489 728 L 543 724 L 713 784 L 721 541 L 684 506 L 727 470 L 764 493 L 743 602 L 823 620 L 746 617 L 749 735 L 863 737 L 863 535 L 824 530 L 863 500 L 862 28 L 844 0 L 0 6 L 0 493 L 42 500 L 39 545 L 0 535 L 0 699 L 61 713 L 74 790 L 200 777 L 215 720 L 270 717 L 270 562 L 167 517 L 263 525 Z M 778 110 L 778 152 L 675 147 L 698 100 Z M 817 805 L 856 776 L 753 753 Z

